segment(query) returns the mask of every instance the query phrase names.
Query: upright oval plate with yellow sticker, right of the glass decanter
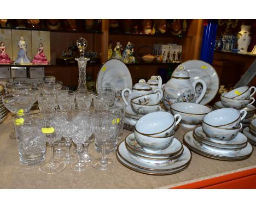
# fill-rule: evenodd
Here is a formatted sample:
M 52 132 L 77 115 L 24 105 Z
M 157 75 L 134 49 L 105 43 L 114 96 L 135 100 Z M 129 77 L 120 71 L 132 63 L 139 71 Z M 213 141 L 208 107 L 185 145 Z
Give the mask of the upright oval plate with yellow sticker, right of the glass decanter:
M 114 88 L 119 96 L 123 89 L 132 89 L 131 74 L 124 62 L 110 59 L 101 66 L 97 76 L 97 90 L 102 87 Z

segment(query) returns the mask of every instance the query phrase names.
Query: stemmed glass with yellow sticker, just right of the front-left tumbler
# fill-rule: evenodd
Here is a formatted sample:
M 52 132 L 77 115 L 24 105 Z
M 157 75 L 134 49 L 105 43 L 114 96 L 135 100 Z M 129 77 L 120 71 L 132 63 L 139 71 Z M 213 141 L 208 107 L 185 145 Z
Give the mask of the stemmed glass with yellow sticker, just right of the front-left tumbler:
M 55 174 L 61 172 L 66 167 L 65 162 L 54 160 L 53 143 L 62 135 L 61 123 L 63 123 L 63 114 L 60 112 L 47 114 L 46 117 L 38 123 L 46 142 L 49 143 L 51 148 L 50 161 L 45 161 L 39 166 L 39 170 L 42 173 Z

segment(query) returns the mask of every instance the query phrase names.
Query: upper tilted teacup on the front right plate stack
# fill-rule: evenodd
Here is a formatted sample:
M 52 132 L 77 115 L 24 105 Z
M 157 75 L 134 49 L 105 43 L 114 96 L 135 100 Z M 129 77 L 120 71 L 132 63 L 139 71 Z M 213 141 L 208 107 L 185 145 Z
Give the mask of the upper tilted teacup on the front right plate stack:
M 221 108 L 208 113 L 202 122 L 212 127 L 236 129 L 240 127 L 241 120 L 246 117 L 246 114 L 245 109 L 238 111 L 234 108 Z

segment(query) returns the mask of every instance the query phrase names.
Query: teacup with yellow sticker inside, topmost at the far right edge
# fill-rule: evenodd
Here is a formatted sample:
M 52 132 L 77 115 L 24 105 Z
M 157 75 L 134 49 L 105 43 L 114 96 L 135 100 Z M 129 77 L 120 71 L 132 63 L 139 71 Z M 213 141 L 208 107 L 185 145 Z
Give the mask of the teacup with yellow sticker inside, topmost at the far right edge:
M 254 89 L 253 93 L 251 94 L 252 89 Z M 232 99 L 238 99 L 238 100 L 249 100 L 250 97 L 252 97 L 255 94 L 256 88 L 255 87 L 240 87 L 236 88 L 234 90 L 229 91 L 224 96 Z

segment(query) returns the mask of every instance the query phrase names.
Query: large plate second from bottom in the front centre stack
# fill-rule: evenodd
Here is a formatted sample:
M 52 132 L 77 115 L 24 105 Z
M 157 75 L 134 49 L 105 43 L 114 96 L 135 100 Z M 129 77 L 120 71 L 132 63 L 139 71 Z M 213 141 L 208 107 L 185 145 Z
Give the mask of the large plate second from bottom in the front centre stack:
M 118 145 L 117 151 L 119 156 L 125 160 L 127 163 L 132 164 L 132 166 L 136 166 L 138 168 L 147 169 L 147 170 L 155 170 L 155 171 L 166 171 L 166 170 L 175 170 L 177 168 L 183 167 L 189 164 L 191 160 L 191 152 L 184 146 L 184 151 L 181 157 L 177 158 L 176 161 L 170 161 L 166 163 L 147 163 L 141 160 L 141 158 L 137 157 L 133 158 L 130 152 L 126 149 L 125 142 L 121 142 Z

